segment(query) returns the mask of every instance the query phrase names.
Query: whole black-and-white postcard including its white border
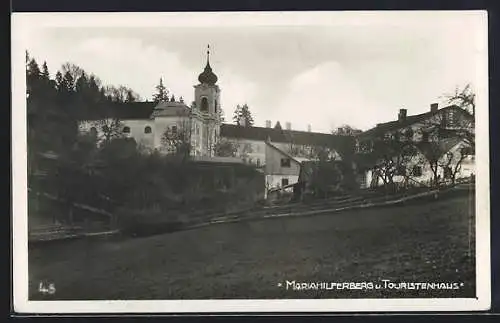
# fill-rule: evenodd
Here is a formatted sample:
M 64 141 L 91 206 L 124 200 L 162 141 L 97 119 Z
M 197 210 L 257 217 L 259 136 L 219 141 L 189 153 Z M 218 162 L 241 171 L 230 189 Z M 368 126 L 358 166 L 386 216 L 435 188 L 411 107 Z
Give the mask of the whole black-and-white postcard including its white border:
M 15 311 L 488 309 L 487 19 L 13 14 Z

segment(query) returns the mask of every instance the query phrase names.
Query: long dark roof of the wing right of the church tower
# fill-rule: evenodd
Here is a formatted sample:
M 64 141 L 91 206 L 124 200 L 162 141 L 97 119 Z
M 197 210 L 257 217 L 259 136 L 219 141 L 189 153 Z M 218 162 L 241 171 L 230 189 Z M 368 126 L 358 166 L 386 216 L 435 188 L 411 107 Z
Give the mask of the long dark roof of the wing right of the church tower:
M 221 125 L 221 136 L 256 141 L 269 139 L 271 142 L 293 142 L 297 145 L 324 146 L 341 150 L 354 149 L 354 137 L 351 136 L 264 127 L 243 127 L 227 123 Z

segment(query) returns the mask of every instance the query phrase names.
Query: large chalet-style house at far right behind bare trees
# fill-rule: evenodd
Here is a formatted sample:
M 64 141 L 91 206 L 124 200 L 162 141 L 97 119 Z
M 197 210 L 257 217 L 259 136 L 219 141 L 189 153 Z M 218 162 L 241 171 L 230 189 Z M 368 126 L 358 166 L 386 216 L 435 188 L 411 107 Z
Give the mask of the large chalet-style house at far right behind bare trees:
M 361 187 L 431 186 L 474 175 L 474 118 L 448 106 L 378 124 L 356 137 L 356 160 Z

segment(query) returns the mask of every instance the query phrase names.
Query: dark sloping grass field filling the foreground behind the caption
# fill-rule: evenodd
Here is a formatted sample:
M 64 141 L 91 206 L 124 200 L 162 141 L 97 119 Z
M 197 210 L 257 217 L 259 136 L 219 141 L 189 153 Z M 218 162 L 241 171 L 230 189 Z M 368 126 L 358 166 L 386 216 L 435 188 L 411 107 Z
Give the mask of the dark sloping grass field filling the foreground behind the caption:
M 474 201 L 460 196 L 146 238 L 41 245 L 29 252 L 30 299 L 474 297 L 473 212 Z M 286 280 L 463 286 L 298 291 L 287 290 Z M 54 283 L 56 293 L 40 294 L 40 281 Z

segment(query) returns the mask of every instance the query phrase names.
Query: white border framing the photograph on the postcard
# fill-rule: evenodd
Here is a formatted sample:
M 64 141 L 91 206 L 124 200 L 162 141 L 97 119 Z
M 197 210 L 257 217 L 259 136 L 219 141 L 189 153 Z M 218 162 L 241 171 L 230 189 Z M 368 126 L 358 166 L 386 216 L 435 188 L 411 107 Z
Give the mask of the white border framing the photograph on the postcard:
M 480 16 L 483 33 L 475 44 L 482 68 L 477 70 L 476 135 L 476 279 L 477 299 L 283 299 L 164 301 L 29 301 L 26 158 L 26 36 L 30 28 L 57 26 L 227 26 L 339 25 L 358 19 L 376 24 L 385 15 L 425 19 L 443 12 L 263 12 L 263 13 L 14 13 L 12 15 L 12 195 L 13 296 L 18 313 L 213 313 L 213 312 L 401 312 L 476 311 L 491 306 L 490 191 L 488 119 L 488 39 L 486 11 L 462 11 Z M 152 19 L 154 18 L 154 19 Z M 363 18 L 363 19 L 359 19 Z M 420 20 L 421 21 L 421 20 Z

